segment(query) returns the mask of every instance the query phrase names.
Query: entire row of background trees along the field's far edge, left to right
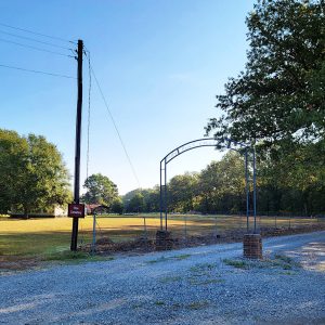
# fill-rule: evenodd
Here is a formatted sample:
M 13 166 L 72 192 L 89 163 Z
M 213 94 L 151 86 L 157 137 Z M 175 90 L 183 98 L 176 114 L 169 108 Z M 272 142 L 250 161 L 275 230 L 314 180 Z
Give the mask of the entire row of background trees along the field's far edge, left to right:
M 43 136 L 21 136 L 0 130 L 0 210 L 25 216 L 72 202 L 69 174 L 55 145 Z M 258 212 L 311 216 L 325 211 L 325 142 L 282 145 L 259 151 Z M 251 170 L 250 178 L 251 178 Z M 105 205 L 113 213 L 159 211 L 159 186 L 136 188 L 123 196 L 107 177 L 96 173 L 83 184 L 86 204 Z M 252 188 L 249 188 L 251 200 Z M 176 176 L 168 182 L 170 212 L 240 213 L 246 211 L 245 161 L 236 152 L 210 162 L 200 172 Z

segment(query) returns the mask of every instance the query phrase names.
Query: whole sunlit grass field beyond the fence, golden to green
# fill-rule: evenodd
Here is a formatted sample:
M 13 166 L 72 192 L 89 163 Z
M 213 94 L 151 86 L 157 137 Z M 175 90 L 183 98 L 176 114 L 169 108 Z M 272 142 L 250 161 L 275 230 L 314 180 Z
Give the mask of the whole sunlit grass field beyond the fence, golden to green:
M 109 236 L 114 242 L 134 239 L 146 235 L 154 238 L 159 229 L 159 216 L 147 214 L 146 233 L 142 216 L 98 217 L 98 238 Z M 0 256 L 32 257 L 49 256 L 69 249 L 72 219 L 29 219 L 15 220 L 0 218 Z M 259 226 L 297 226 L 318 222 L 306 218 L 258 218 Z M 252 225 L 252 220 L 250 219 Z M 92 217 L 80 219 L 79 244 L 91 243 Z M 222 233 L 226 230 L 246 229 L 246 217 L 236 216 L 169 216 L 168 227 L 178 237 L 185 235 L 204 235 L 211 232 Z

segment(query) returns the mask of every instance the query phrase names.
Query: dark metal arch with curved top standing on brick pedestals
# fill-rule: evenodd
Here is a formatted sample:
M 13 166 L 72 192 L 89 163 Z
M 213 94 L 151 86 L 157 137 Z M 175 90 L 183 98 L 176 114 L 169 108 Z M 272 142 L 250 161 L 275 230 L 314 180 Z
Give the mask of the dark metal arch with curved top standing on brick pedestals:
M 252 216 L 253 216 L 253 233 L 256 233 L 257 224 L 256 224 L 256 152 L 255 147 L 250 144 L 245 144 L 242 142 L 236 142 L 231 139 L 223 139 L 222 141 L 225 144 L 220 144 L 221 141 L 216 138 L 204 138 L 197 139 L 190 142 L 186 142 L 177 148 L 169 152 L 161 160 L 160 160 L 160 230 L 164 229 L 164 216 L 165 214 L 165 230 L 167 231 L 167 214 L 168 214 L 168 193 L 167 193 L 167 165 L 177 158 L 178 156 L 205 146 L 213 146 L 217 145 L 220 148 L 227 148 L 235 151 L 245 157 L 245 191 L 246 191 L 246 225 L 247 232 L 249 231 L 249 183 L 252 183 Z M 251 158 L 251 159 L 249 159 Z M 249 162 L 251 164 L 252 169 L 252 179 L 249 178 Z M 164 177 L 162 177 L 164 173 Z

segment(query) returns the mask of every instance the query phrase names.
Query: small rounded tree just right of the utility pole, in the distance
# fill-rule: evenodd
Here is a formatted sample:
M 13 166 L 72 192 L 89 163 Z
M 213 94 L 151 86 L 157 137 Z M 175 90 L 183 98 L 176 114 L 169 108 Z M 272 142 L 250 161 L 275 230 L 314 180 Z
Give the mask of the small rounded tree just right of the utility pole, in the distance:
M 87 188 L 81 200 L 86 204 L 100 204 L 110 207 L 118 199 L 117 186 L 105 176 L 95 173 L 90 176 L 83 184 Z

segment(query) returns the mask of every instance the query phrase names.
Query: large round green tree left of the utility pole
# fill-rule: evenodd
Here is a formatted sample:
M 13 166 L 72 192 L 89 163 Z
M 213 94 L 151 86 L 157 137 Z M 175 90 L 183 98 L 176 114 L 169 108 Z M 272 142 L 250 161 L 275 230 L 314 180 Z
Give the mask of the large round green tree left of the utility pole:
M 0 166 L 2 207 L 22 209 L 27 217 L 70 198 L 62 155 L 44 136 L 0 130 Z

